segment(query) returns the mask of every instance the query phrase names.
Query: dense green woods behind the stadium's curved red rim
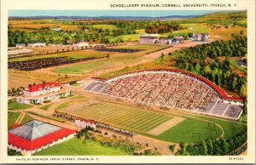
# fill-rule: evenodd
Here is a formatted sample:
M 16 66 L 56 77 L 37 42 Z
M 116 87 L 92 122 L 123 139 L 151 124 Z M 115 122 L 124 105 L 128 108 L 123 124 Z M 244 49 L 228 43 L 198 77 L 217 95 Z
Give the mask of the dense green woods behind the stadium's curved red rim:
M 247 38 L 235 37 L 234 41 L 218 41 L 178 51 L 177 67 L 206 77 L 218 86 L 247 95 L 247 78 L 234 73 L 230 56 L 247 54 Z M 225 56 L 219 60 L 218 56 Z

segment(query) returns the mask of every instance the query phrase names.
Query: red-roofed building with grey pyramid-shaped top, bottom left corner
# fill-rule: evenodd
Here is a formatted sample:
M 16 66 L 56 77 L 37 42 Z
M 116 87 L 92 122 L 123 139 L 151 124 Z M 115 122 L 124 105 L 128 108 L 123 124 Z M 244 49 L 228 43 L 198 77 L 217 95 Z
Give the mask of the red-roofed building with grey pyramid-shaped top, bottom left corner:
M 31 156 L 49 146 L 71 139 L 76 130 L 61 128 L 47 122 L 32 120 L 23 125 L 14 124 L 8 132 L 8 147 Z

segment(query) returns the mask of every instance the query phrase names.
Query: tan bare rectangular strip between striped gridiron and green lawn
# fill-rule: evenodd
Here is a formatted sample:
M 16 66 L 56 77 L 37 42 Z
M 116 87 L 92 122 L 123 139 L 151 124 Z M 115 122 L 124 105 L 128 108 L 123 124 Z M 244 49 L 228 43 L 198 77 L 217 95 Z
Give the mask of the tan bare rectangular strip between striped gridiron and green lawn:
M 160 124 L 158 127 L 149 130 L 147 133 L 158 136 L 164 133 L 167 129 L 176 126 L 178 123 L 183 122 L 184 120 L 185 118 L 183 117 L 173 117 L 171 120 L 168 120 L 167 122 Z

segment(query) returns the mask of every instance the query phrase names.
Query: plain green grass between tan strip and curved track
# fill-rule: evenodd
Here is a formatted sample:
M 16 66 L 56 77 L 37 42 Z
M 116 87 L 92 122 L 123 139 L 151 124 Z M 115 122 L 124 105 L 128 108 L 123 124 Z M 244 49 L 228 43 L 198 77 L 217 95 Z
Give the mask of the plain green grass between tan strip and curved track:
M 187 118 L 156 138 L 178 143 L 196 143 L 221 134 L 221 129 L 214 127 L 212 123 L 208 125 L 208 122 Z

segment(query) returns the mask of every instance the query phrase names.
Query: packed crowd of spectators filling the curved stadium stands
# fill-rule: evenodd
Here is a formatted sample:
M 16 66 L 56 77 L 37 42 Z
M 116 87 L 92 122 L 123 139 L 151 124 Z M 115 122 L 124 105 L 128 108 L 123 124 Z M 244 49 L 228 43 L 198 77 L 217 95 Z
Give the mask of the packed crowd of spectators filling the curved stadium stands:
M 103 93 L 154 105 L 202 109 L 216 94 L 205 84 L 178 74 L 138 74 L 108 83 Z

